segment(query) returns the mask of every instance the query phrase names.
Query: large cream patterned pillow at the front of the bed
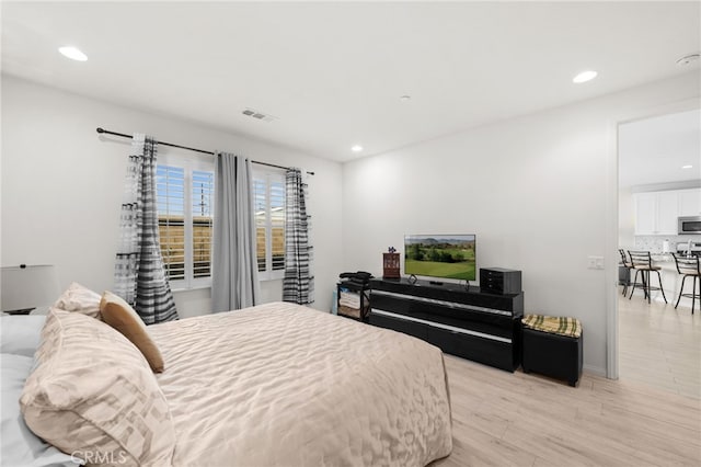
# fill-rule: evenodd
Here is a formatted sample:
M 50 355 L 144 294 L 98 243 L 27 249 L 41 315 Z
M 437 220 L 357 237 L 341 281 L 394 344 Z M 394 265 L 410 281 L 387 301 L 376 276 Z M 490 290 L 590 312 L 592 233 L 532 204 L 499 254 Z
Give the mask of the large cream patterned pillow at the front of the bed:
M 54 348 L 20 398 L 30 429 L 90 465 L 172 465 L 168 400 L 134 344 L 102 321 L 56 308 L 47 327 Z

